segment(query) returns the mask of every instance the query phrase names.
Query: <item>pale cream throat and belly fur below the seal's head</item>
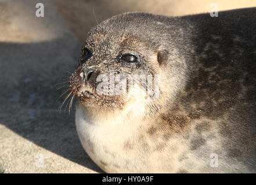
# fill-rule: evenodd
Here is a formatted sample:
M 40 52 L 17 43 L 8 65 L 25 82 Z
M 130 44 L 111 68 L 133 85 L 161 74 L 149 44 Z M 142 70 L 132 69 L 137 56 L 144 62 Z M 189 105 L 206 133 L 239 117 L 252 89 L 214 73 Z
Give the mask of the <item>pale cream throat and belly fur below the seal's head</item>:
M 138 113 L 138 112 L 137 112 Z M 139 114 L 139 113 L 138 113 Z M 118 114 L 89 118 L 81 105 L 77 105 L 75 124 L 82 146 L 91 159 L 108 173 L 207 173 L 247 171 L 243 164 L 225 158 L 222 138 L 217 128 L 203 135 L 208 138 L 204 146 L 192 148 L 194 127 L 187 133 L 174 135 L 168 140 L 147 134 L 150 120 L 142 121 L 139 115 L 129 119 Z M 200 123 L 200 121 L 198 121 Z M 218 166 L 211 166 L 211 154 L 218 153 Z

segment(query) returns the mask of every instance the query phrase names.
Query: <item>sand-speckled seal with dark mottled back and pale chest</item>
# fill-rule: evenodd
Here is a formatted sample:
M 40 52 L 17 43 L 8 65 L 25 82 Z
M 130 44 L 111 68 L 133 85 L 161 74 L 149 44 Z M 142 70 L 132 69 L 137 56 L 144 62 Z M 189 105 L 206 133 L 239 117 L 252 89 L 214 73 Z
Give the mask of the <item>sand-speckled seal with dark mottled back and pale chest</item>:
M 110 173 L 256 172 L 256 9 L 125 13 L 91 30 L 75 124 Z

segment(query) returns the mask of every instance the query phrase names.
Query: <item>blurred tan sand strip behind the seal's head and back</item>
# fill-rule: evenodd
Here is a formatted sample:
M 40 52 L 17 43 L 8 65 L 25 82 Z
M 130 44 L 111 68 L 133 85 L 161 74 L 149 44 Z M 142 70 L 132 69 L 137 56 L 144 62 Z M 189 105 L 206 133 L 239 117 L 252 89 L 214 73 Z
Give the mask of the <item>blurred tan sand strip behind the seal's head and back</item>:
M 149 12 L 167 16 L 207 13 L 216 3 L 219 10 L 256 6 L 256 0 L 54 0 L 74 34 L 84 40 L 89 29 L 100 22 L 124 12 Z M 94 12 L 94 13 L 93 13 Z

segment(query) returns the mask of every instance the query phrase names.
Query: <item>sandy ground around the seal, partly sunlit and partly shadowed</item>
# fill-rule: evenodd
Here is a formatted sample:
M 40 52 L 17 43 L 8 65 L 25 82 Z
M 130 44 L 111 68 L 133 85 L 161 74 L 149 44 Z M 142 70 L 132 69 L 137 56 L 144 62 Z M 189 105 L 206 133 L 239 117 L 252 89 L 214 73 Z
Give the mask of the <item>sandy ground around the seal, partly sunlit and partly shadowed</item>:
M 35 16 L 44 3 L 45 17 Z M 90 28 L 114 14 L 177 16 L 256 6 L 256 1 L 0 0 L 0 173 L 102 172 L 82 149 L 74 110 L 59 114 L 67 71 Z M 93 11 L 94 10 L 94 11 Z M 94 12 L 94 13 L 93 13 Z

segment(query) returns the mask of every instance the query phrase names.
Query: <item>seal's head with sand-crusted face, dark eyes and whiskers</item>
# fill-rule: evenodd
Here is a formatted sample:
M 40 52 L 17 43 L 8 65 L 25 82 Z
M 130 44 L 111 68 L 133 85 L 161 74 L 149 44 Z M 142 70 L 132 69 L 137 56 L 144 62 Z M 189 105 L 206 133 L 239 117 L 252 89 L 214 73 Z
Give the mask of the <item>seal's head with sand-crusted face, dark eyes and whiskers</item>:
M 73 94 L 84 106 L 110 110 L 137 101 L 153 108 L 158 106 L 163 94 L 165 100 L 173 101 L 181 89 L 177 87 L 186 82 L 191 66 L 185 61 L 192 60 L 188 52 L 193 52 L 193 47 L 182 27 L 170 25 L 169 22 L 167 26 L 163 16 L 144 13 L 122 14 L 103 21 L 92 29 L 82 47 L 80 66 L 70 78 Z M 181 45 L 181 41 L 186 45 Z M 114 80 L 113 88 L 111 80 Z M 132 80 L 140 81 L 140 86 L 131 86 Z M 151 87 L 153 93 L 146 87 L 150 80 L 158 83 L 157 87 Z M 144 96 L 138 93 L 142 87 L 145 87 Z M 147 97 L 154 97 L 154 102 Z M 171 102 L 166 104 L 170 106 Z

